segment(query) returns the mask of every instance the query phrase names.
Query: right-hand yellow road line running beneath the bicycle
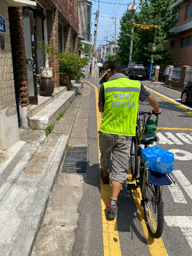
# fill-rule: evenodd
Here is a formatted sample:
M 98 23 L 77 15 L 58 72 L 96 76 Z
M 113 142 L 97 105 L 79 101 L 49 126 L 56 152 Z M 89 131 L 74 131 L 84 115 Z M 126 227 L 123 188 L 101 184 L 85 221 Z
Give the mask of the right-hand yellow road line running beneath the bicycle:
M 128 181 L 130 184 L 136 184 L 136 181 L 133 181 L 131 173 L 128 173 Z M 140 216 L 140 221 L 143 227 L 143 231 L 145 233 L 145 237 L 147 240 L 148 248 L 151 253 L 151 256 L 168 256 L 165 245 L 163 244 L 162 238 L 154 239 L 148 232 L 147 226 L 145 224 L 145 215 L 143 211 L 143 207 L 141 206 L 141 190 L 137 188 L 137 190 L 132 191 L 134 201 L 137 207 L 137 212 Z

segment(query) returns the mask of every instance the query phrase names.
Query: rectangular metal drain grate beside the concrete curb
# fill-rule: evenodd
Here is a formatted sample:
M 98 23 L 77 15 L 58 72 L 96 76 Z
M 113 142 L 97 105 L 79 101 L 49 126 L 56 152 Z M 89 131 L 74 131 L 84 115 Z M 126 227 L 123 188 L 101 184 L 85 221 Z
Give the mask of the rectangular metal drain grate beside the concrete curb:
M 85 174 L 87 172 L 87 147 L 69 148 L 62 172 Z

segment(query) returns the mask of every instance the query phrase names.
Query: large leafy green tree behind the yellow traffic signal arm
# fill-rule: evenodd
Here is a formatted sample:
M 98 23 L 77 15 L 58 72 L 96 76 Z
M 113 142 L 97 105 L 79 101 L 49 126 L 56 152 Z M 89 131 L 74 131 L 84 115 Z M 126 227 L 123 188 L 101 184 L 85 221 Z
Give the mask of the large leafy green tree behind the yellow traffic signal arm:
M 135 13 L 134 23 L 154 26 L 156 17 L 159 17 L 157 27 L 157 52 L 154 53 L 154 64 L 168 64 L 173 62 L 172 50 L 165 48 L 168 40 L 169 30 L 175 26 L 177 19 L 172 9 L 169 9 L 170 0 L 140 0 L 139 12 Z M 150 62 L 151 44 L 154 41 L 154 28 L 142 29 L 140 26 L 131 25 L 132 14 L 126 11 L 120 21 L 120 36 L 118 45 L 120 47 L 119 57 L 123 64 L 129 61 L 131 26 L 134 26 L 133 55 L 132 61 Z M 128 34 L 128 35 L 124 35 Z

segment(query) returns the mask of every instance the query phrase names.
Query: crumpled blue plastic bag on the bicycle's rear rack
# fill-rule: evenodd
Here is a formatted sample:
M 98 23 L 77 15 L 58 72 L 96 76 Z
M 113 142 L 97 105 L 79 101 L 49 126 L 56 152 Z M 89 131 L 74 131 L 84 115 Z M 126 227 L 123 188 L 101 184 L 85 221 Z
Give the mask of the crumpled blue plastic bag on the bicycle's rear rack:
M 146 147 L 142 149 L 143 163 L 147 161 L 149 170 L 157 174 L 170 174 L 173 171 L 174 154 L 158 147 Z

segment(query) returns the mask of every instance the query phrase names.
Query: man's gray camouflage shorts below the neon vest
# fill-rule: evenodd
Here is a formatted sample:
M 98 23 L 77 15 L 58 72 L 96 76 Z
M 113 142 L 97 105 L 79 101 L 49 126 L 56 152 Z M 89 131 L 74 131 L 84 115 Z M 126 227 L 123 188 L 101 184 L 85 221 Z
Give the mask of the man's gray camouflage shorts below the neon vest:
M 116 135 L 99 131 L 101 168 L 102 170 L 109 168 L 112 153 L 112 173 L 110 177 L 121 183 L 127 180 L 131 138 L 131 136 Z

